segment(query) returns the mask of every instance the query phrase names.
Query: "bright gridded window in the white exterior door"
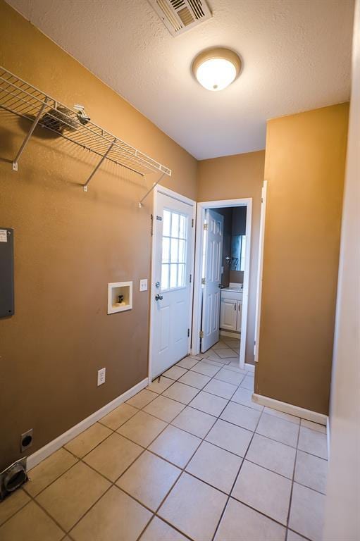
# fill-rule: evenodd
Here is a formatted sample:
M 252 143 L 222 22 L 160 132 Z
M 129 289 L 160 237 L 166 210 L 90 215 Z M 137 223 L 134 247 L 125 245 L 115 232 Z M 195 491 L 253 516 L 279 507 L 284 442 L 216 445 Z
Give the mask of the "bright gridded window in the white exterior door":
M 188 217 L 163 211 L 161 290 L 185 287 Z

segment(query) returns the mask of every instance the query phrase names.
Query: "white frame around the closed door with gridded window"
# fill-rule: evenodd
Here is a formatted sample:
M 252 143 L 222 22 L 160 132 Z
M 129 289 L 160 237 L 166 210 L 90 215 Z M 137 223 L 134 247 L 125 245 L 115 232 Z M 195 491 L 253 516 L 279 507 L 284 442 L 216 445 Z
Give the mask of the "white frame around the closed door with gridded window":
M 154 188 L 154 198 L 153 198 L 153 223 L 152 223 L 152 237 L 151 237 L 151 277 L 150 277 L 150 325 L 149 325 L 149 384 L 151 383 L 151 380 L 153 378 L 153 359 L 152 359 L 152 347 L 154 344 L 154 321 L 155 321 L 155 314 L 154 314 L 154 303 L 152 302 L 152 299 L 154 298 L 154 295 L 156 294 L 156 287 L 154 283 L 154 275 L 155 275 L 155 246 L 156 246 L 156 209 L 158 206 L 158 195 L 164 194 L 168 195 L 168 197 L 173 197 L 173 199 L 177 199 L 178 201 L 182 201 L 183 203 L 187 203 L 188 205 L 192 206 L 192 224 L 195 230 L 195 218 L 196 218 L 196 209 L 197 204 L 196 201 L 193 199 L 189 199 L 189 197 L 185 197 L 185 195 L 178 194 L 177 192 L 173 192 L 172 189 L 168 189 L 161 185 L 156 185 Z M 191 285 L 190 285 L 190 303 L 189 303 L 189 328 L 190 328 L 190 336 L 187 340 L 187 352 L 190 353 L 190 347 L 191 347 L 191 330 L 192 330 L 192 303 L 194 299 L 194 256 L 195 256 L 195 235 L 194 232 L 192 234 L 192 246 L 191 246 L 191 260 L 190 260 L 190 272 L 192 276 Z

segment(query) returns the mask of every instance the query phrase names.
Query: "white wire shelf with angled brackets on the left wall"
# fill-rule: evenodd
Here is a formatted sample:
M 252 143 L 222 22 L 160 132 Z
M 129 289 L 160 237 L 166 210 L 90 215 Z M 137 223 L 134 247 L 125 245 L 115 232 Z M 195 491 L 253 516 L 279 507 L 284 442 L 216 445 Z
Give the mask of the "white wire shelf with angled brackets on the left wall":
M 135 149 L 115 135 L 94 124 L 86 116 L 81 106 L 70 109 L 56 99 L 45 94 L 30 83 L 20 79 L 0 66 L 0 108 L 30 120 L 30 130 L 13 160 L 13 170 L 18 170 L 18 162 L 37 125 L 56 132 L 87 151 L 99 156 L 100 160 L 89 178 L 82 185 L 87 192 L 90 180 L 104 160 L 109 160 L 144 177 L 147 173 L 160 173 L 160 178 L 144 194 L 139 206 L 152 189 L 159 184 L 164 175 L 171 176 L 171 170 L 155 161 L 147 154 Z

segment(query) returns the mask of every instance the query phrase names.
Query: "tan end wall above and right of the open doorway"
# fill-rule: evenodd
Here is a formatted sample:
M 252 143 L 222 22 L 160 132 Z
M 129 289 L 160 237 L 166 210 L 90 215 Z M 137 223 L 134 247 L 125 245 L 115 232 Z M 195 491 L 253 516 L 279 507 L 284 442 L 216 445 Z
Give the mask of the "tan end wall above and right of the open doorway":
M 199 161 L 198 201 L 252 197 L 252 247 L 250 254 L 249 312 L 245 360 L 254 363 L 256 273 L 259 252 L 261 187 L 264 151 Z

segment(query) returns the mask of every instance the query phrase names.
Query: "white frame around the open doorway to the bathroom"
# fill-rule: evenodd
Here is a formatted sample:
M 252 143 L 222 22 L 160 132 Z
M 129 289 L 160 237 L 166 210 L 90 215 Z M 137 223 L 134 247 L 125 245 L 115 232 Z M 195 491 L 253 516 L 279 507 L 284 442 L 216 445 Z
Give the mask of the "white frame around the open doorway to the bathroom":
M 240 342 L 240 367 L 245 365 L 245 347 L 247 336 L 247 316 L 249 306 L 249 277 L 250 277 L 250 254 L 252 241 L 252 197 L 244 199 L 221 199 L 218 201 L 201 201 L 197 204 L 197 230 L 196 230 L 196 251 L 194 268 L 194 311 L 192 318 L 192 354 L 197 355 L 200 352 L 200 330 L 201 330 L 201 261 L 204 240 L 204 217 L 206 209 L 221 209 L 229 206 L 246 206 L 247 220 L 246 231 L 247 245 L 245 249 L 245 268 L 244 268 L 244 290 L 242 293 L 242 322 L 241 335 L 244 339 Z

